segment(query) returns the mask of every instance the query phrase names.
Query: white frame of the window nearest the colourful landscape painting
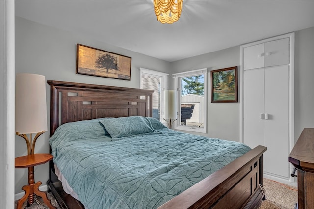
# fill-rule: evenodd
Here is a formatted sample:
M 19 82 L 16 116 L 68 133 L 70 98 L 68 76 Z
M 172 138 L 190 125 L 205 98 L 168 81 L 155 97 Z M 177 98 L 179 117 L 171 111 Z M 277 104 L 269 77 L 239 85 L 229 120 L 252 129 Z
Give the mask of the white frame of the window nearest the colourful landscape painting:
M 181 125 L 181 78 L 188 76 L 198 76 L 204 75 L 204 128 L 202 127 L 194 127 L 194 126 L 182 126 Z M 174 78 L 174 86 L 178 91 L 178 120 L 175 122 L 175 129 L 183 130 L 183 131 L 193 131 L 200 133 L 207 133 L 207 68 L 186 71 L 182 73 L 172 74 L 172 78 Z

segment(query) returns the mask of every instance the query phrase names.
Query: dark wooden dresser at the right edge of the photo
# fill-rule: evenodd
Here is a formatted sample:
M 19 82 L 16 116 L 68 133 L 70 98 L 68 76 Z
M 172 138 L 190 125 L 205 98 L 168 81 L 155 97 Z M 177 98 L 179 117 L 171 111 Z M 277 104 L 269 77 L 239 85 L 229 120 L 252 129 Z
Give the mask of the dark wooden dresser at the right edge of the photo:
M 289 155 L 298 169 L 298 209 L 314 209 L 314 128 L 305 128 Z

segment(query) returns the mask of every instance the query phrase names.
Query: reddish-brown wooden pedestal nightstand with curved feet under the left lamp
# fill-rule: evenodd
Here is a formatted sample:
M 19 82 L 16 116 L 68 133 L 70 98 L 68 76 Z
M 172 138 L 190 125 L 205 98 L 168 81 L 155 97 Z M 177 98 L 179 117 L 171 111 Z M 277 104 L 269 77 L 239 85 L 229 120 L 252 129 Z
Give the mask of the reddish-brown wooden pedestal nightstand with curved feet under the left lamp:
M 32 154 L 15 158 L 15 168 L 28 168 L 28 185 L 22 187 L 25 191 L 24 196 L 18 200 L 17 209 L 23 209 L 27 203 L 33 204 L 35 195 L 42 197 L 44 203 L 50 209 L 56 209 L 48 200 L 46 192 L 40 191 L 38 188 L 42 184 L 40 181 L 35 183 L 34 166 L 45 164 L 52 160 L 53 156 L 47 153 Z

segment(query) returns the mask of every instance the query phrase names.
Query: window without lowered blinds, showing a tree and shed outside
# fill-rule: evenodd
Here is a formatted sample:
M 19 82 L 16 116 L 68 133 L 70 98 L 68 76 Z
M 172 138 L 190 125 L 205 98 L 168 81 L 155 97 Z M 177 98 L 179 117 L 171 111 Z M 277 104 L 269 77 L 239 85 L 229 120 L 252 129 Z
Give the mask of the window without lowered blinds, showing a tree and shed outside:
M 173 74 L 178 89 L 175 129 L 206 133 L 207 69 Z

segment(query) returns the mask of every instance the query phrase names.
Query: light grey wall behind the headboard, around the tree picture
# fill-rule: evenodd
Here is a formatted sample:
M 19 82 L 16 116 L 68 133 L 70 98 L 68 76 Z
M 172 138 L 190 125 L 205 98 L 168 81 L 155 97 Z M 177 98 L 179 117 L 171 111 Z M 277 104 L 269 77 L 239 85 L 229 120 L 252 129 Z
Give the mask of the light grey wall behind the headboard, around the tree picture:
M 147 55 L 131 52 L 109 44 L 95 41 L 90 37 L 58 30 L 23 18 L 15 21 L 16 73 L 35 73 L 46 76 L 46 80 L 61 80 L 110 86 L 139 88 L 139 68 L 168 73 L 170 63 Z M 109 40 L 108 40 L 109 42 Z M 84 44 L 109 52 L 126 55 L 131 60 L 131 81 L 76 74 L 76 44 Z M 49 85 L 46 86 L 49 127 Z M 26 143 L 22 137 L 15 137 L 15 157 L 26 155 Z M 35 153 L 49 152 L 49 131 L 36 142 Z M 35 181 L 46 185 L 49 166 L 35 166 Z M 15 169 L 15 193 L 23 192 L 27 184 L 27 169 Z

